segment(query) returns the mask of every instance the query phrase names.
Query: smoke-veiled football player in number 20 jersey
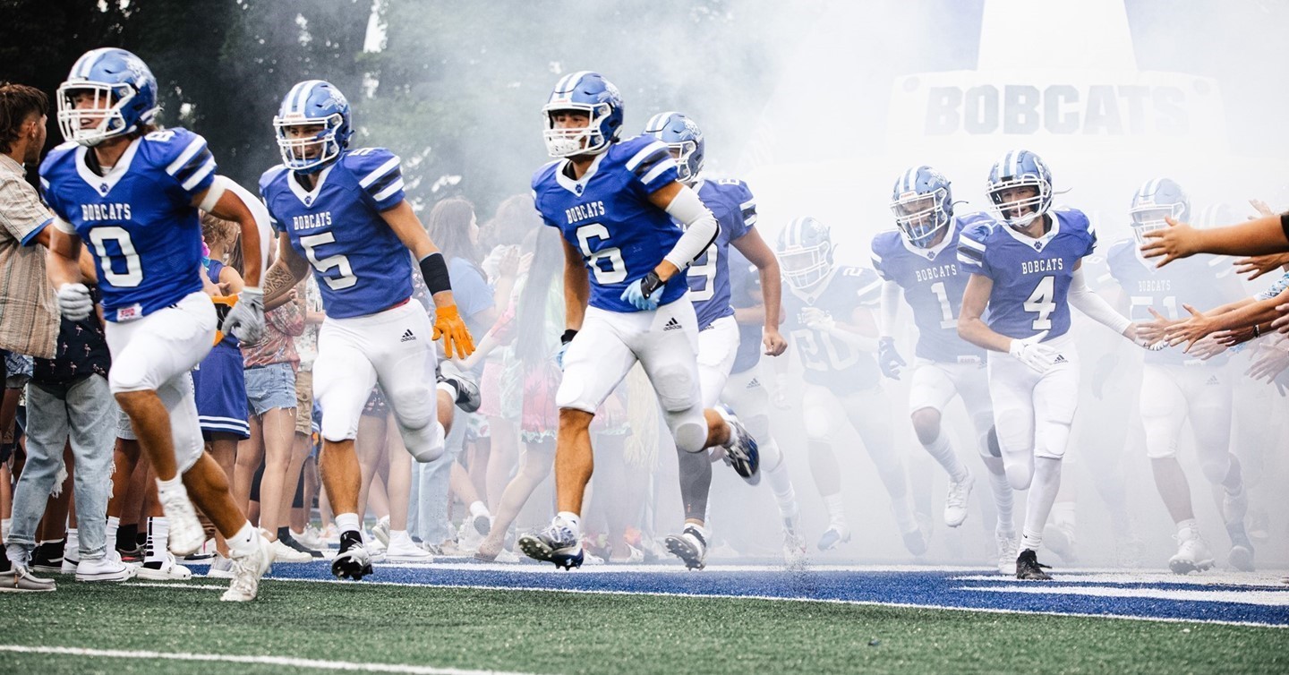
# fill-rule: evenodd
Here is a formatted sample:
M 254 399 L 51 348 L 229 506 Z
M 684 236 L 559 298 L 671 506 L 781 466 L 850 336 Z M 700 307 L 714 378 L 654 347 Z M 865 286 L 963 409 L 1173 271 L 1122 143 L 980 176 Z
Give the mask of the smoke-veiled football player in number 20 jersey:
M 829 404 L 835 399 L 864 439 L 891 495 L 905 547 L 922 555 L 927 551 L 931 523 L 915 514 L 904 462 L 891 433 L 891 404 L 883 395 L 882 372 L 873 358 L 878 347 L 873 310 L 880 301 L 882 280 L 871 269 L 838 264 L 828 225 L 809 216 L 794 219 L 780 232 L 779 263 L 788 289 L 784 310 L 789 340 L 797 345 L 804 368 L 802 414 L 811 474 L 829 517 L 819 549 L 829 550 L 851 538 L 840 471 L 833 453 Z M 782 383 L 779 388 L 781 393 Z

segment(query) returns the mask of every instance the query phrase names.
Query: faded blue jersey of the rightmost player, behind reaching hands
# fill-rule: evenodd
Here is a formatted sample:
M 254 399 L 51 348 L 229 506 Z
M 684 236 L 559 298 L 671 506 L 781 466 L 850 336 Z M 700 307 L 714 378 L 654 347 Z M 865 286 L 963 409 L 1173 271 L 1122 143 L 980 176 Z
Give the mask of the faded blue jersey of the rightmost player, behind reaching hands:
M 1142 260 L 1137 252 L 1137 242 L 1128 238 L 1110 247 L 1107 263 L 1110 276 L 1132 303 L 1129 317 L 1133 321 L 1154 321 L 1150 308 L 1170 319 L 1178 319 L 1188 316 L 1182 308 L 1183 303 L 1204 312 L 1244 296 L 1235 267 L 1217 255 L 1183 258 L 1156 268 L 1152 260 Z M 1146 363 L 1160 365 L 1221 366 L 1228 358 L 1223 352 L 1201 361 L 1182 352 L 1181 347 L 1146 352 Z

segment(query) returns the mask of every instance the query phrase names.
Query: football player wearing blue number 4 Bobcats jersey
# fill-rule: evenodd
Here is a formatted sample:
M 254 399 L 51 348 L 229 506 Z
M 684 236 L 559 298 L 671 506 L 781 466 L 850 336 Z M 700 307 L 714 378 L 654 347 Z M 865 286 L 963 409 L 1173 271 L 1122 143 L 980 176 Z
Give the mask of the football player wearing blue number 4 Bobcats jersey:
M 1049 580 L 1038 549 L 1061 487 L 1079 393 L 1070 307 L 1129 340 L 1137 341 L 1137 331 L 1084 282 L 1079 267 L 1097 236 L 1083 211 L 1052 209 L 1052 173 L 1038 155 L 1005 153 L 990 170 L 986 192 L 1003 222 L 973 225 L 959 238 L 958 261 L 971 278 L 958 332 L 990 350 L 989 392 L 1004 470 L 1012 488 L 1030 491 L 1016 578 Z

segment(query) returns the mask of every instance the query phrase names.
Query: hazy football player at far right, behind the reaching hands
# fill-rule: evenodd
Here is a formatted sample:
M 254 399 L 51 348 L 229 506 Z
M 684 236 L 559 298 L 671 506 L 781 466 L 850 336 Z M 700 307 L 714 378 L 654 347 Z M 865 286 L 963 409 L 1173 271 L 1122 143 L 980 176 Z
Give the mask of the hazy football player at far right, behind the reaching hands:
M 1152 312 L 1178 321 L 1185 312 L 1182 301 L 1214 308 L 1244 295 L 1235 268 L 1222 258 L 1185 258 L 1156 268 L 1141 255 L 1145 233 L 1167 228 L 1165 218 L 1190 222 L 1191 204 L 1177 182 L 1155 178 L 1143 183 L 1133 195 L 1129 216 L 1133 237 L 1110 249 L 1109 263 L 1111 276 L 1132 299 L 1134 321 L 1151 321 Z M 1237 569 L 1253 569 L 1253 544 L 1244 527 L 1248 495 L 1240 461 L 1230 452 L 1235 375 L 1228 361 L 1226 353 L 1204 359 L 1179 348 L 1146 354 L 1139 412 L 1155 487 L 1177 524 L 1177 555 L 1168 560 L 1168 567 L 1178 575 L 1213 567 L 1213 551 L 1195 520 L 1190 483 L 1177 461 L 1187 419 L 1205 478 L 1223 490 L 1222 517 L 1231 537 L 1228 560 Z

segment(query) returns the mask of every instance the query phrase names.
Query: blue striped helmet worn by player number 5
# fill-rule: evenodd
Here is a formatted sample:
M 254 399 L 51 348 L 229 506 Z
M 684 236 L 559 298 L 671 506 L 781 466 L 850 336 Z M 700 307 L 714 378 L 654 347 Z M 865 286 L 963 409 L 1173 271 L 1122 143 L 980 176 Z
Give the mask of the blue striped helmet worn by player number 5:
M 291 137 L 287 129 L 293 126 L 321 129 L 311 137 Z M 349 147 L 353 135 L 349 102 L 331 82 L 304 80 L 286 93 L 273 117 L 273 131 L 284 166 L 302 174 L 321 171 Z

